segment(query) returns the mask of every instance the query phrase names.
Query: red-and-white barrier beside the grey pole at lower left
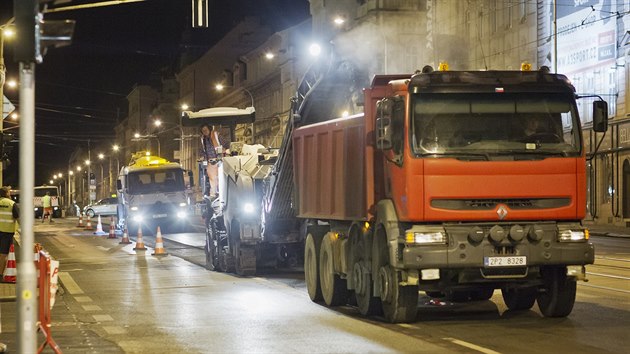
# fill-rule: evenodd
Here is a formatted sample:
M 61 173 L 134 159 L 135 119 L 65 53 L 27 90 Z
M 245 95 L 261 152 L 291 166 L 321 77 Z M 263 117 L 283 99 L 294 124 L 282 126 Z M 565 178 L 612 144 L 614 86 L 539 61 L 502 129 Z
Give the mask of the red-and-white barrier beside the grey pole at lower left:
M 56 282 L 53 284 L 53 280 L 56 279 L 59 272 L 59 262 L 52 261 L 50 255 L 45 251 L 39 251 L 38 270 L 39 277 L 37 279 L 37 285 L 39 287 L 39 330 L 46 339 L 42 345 L 37 349 L 37 353 L 41 353 L 46 345 L 50 345 L 50 348 L 60 354 L 61 348 L 55 342 L 51 333 L 51 309 L 54 304 L 56 292 Z M 55 264 L 56 263 L 56 266 Z M 51 266 L 52 264 L 52 266 Z M 52 289 L 54 286 L 54 289 Z

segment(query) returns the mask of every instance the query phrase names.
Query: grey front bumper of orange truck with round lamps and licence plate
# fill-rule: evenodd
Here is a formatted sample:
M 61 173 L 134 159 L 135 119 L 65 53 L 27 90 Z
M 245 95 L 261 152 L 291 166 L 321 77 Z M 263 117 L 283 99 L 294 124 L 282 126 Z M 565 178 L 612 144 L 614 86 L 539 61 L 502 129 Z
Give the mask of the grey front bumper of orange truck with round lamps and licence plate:
M 529 267 L 592 264 L 595 258 L 594 246 L 586 239 L 559 240 L 562 230 L 570 227 L 583 229 L 577 223 L 454 224 L 441 227 L 446 236 L 445 243 L 418 245 L 401 239 L 400 268 L 476 268 L 484 277 L 518 277 L 519 274 L 526 276 Z M 519 228 L 517 235 L 514 230 Z

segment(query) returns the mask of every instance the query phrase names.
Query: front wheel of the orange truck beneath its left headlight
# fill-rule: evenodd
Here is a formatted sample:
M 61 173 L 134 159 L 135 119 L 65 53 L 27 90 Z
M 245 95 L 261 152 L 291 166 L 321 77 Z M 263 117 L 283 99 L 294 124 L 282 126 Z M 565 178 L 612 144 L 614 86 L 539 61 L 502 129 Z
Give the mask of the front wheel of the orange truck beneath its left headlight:
M 418 286 L 400 285 L 400 272 L 385 264 L 379 270 L 383 315 L 391 323 L 413 322 L 418 314 Z

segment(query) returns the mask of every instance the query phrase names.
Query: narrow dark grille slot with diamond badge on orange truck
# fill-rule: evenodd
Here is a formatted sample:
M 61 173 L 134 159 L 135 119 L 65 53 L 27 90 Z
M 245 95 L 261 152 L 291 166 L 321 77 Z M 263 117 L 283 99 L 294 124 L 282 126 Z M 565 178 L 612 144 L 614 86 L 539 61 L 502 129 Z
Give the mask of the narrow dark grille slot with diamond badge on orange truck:
M 571 198 L 523 198 L 523 199 L 433 199 L 431 206 L 447 210 L 493 210 L 499 204 L 510 209 L 551 209 L 567 206 Z

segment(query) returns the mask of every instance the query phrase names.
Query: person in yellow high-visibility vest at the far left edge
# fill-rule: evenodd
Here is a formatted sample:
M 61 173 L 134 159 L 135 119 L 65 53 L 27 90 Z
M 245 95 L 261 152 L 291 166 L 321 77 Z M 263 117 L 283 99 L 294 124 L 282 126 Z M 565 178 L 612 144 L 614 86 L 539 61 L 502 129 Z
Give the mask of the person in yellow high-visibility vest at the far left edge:
M 13 235 L 17 220 L 20 218 L 20 210 L 17 203 L 11 199 L 9 188 L 0 188 L 0 276 L 4 274 L 7 266 L 9 250 L 13 244 Z M 0 353 L 7 351 L 7 345 L 0 343 Z

